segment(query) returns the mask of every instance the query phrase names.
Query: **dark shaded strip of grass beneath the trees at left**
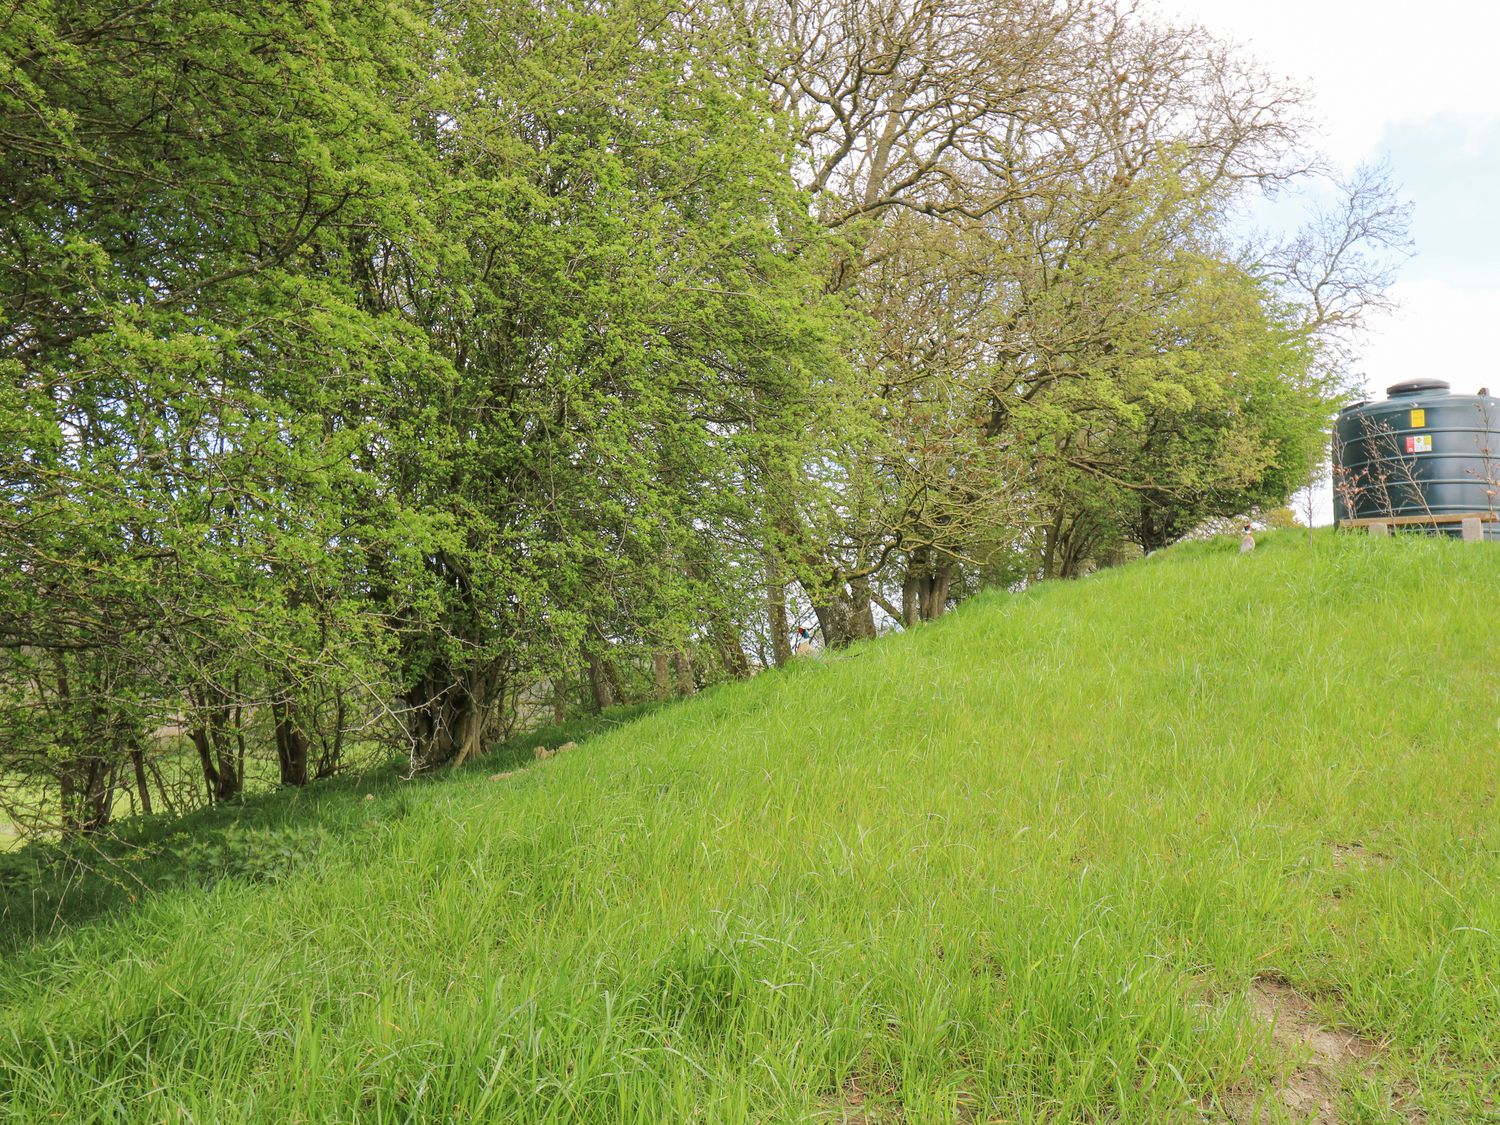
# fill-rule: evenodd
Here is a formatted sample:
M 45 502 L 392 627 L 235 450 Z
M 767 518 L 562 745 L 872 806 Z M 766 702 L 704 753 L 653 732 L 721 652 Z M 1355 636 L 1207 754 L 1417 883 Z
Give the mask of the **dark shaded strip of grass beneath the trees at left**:
M 132 818 L 106 836 L 0 852 L 0 954 L 126 912 L 164 891 L 204 888 L 224 879 L 288 878 L 321 854 L 369 836 L 381 822 L 411 814 L 429 786 L 525 768 L 537 760 L 540 746 L 582 746 L 658 706 L 664 704 L 618 706 L 531 730 L 456 771 L 408 777 L 404 762 L 393 764 L 186 816 Z

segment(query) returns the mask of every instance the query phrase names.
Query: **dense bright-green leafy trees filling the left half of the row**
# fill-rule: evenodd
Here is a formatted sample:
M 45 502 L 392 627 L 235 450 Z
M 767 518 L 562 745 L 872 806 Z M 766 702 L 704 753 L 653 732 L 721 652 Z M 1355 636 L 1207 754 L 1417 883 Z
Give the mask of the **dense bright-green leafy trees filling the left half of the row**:
M 255 716 L 302 784 L 370 732 L 472 754 L 582 648 L 705 616 L 738 646 L 723 532 L 837 310 L 789 135 L 699 32 L 398 0 L 6 24 L 0 747 L 56 826 L 100 830 L 164 724 L 232 801 Z

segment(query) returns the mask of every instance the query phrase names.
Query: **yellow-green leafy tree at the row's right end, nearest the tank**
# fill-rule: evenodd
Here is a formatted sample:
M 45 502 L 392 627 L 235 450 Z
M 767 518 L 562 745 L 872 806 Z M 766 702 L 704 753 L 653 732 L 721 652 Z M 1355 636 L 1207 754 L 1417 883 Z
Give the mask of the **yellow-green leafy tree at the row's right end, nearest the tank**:
M 1335 390 L 1294 315 L 1196 254 L 1150 284 L 1164 290 L 1119 302 L 1150 315 L 1122 318 L 1088 376 L 1014 411 L 1046 450 L 1038 492 L 1059 528 L 1047 576 L 1284 504 L 1322 460 Z

